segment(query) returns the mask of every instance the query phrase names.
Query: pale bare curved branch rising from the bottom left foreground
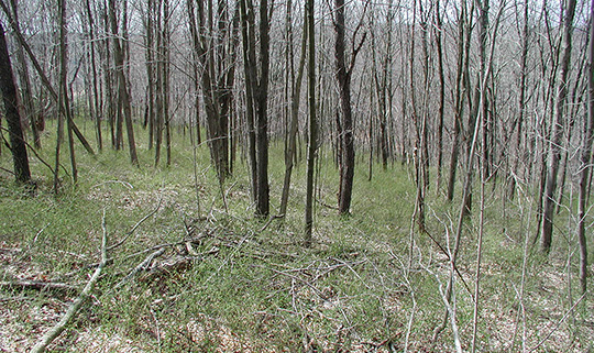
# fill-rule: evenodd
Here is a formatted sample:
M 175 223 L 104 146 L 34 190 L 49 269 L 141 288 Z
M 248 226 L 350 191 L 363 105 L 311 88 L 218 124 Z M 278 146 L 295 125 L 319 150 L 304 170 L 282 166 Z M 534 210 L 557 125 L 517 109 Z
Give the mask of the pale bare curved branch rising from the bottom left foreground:
M 89 298 L 90 293 L 92 288 L 95 287 L 95 284 L 97 283 L 97 279 L 99 279 L 99 276 L 101 275 L 101 271 L 107 265 L 107 232 L 105 231 L 105 223 L 106 223 L 106 211 L 103 210 L 103 238 L 101 241 L 101 263 L 99 264 L 99 267 L 95 269 L 95 273 L 92 274 L 91 278 L 80 293 L 80 296 L 76 298 L 72 306 L 68 308 L 66 313 L 62 317 L 58 323 L 56 323 L 50 331 L 47 331 L 35 344 L 35 346 L 31 350 L 31 353 L 41 353 L 45 352 L 47 349 L 47 345 L 52 343 L 66 328 L 68 322 L 74 318 L 74 316 L 77 313 L 77 311 L 80 309 L 80 307 L 85 304 L 85 301 Z

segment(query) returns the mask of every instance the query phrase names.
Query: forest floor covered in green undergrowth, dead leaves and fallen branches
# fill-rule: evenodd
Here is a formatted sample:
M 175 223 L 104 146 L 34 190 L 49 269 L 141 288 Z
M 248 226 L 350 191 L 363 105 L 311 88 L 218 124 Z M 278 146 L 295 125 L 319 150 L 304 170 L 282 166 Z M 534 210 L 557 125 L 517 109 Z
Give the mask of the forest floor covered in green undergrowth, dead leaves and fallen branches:
M 53 161 L 44 142 L 41 156 Z M 369 180 L 361 158 L 352 216 L 340 217 L 332 207 L 338 174 L 323 152 L 315 243 L 306 249 L 305 164 L 295 170 L 286 217 L 258 220 L 244 161 L 219 186 L 206 145 L 195 161 L 189 136 L 174 142 L 172 165 L 157 168 L 142 141 L 140 167 L 130 166 L 127 152 L 77 150 L 78 184 L 64 173 L 57 196 L 51 172 L 33 156 L 36 190 L 15 186 L 2 150 L 0 352 L 31 350 L 59 321 L 97 268 L 103 235 L 109 262 L 51 351 L 453 352 L 458 343 L 470 351 L 473 337 L 479 352 L 593 349 L 594 300 L 579 289 L 571 207 L 561 209 L 544 258 L 532 246 L 531 188 L 504 199 L 501 181 L 488 185 L 474 334 L 479 192 L 452 277 L 448 250 L 460 199 L 446 202 L 433 183 L 428 233 L 418 232 L 413 167 L 374 165 Z M 272 145 L 273 213 L 282 150 Z M 450 278 L 454 320 L 433 340 Z

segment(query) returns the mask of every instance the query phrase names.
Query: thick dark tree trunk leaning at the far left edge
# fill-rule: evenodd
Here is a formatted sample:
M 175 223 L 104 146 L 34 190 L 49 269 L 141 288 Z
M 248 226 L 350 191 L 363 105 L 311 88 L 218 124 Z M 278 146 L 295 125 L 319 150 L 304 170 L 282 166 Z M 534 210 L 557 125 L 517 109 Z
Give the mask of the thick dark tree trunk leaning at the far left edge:
M 14 176 L 18 183 L 31 181 L 31 170 L 29 169 L 29 157 L 21 126 L 21 114 L 19 113 L 19 101 L 16 98 L 16 85 L 12 74 L 12 65 L 4 37 L 4 27 L 0 23 L 0 89 L 4 103 L 4 115 L 9 128 L 10 151 L 14 165 Z

